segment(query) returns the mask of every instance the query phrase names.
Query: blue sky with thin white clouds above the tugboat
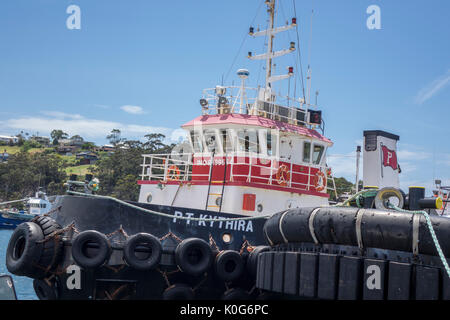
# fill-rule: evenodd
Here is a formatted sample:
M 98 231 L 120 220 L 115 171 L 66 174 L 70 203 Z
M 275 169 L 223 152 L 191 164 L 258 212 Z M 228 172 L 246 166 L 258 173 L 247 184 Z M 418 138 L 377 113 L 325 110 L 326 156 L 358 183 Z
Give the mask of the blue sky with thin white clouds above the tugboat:
M 250 70 L 249 85 L 262 83 L 259 62 L 246 58 L 262 52 L 262 39 L 246 37 L 238 51 L 253 20 L 255 28 L 266 26 L 264 6 L 254 19 L 261 2 L 2 1 L 0 134 L 63 129 L 104 143 L 118 127 L 130 139 L 151 131 L 175 138 L 200 114 L 202 89 L 222 77 L 237 84 L 242 67 Z M 294 11 L 292 0 L 278 2 L 280 25 Z M 311 63 L 336 175 L 354 179 L 348 156 L 363 130 L 379 129 L 400 136 L 403 187 L 430 187 L 434 178 L 450 184 L 450 2 L 295 3 L 302 66 L 305 72 Z M 81 9 L 80 30 L 66 27 L 72 4 Z M 373 4 L 381 30 L 366 27 Z M 280 35 L 275 48 L 291 40 L 295 32 Z M 280 61 L 277 73 L 295 66 L 295 57 Z

